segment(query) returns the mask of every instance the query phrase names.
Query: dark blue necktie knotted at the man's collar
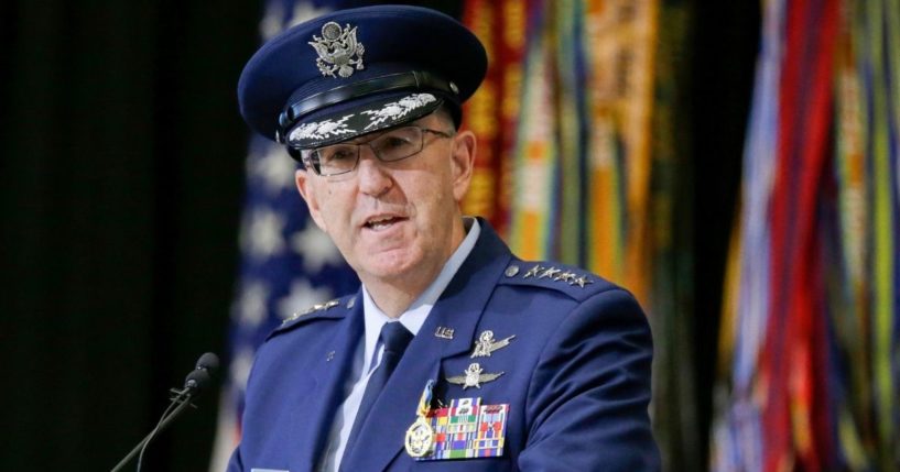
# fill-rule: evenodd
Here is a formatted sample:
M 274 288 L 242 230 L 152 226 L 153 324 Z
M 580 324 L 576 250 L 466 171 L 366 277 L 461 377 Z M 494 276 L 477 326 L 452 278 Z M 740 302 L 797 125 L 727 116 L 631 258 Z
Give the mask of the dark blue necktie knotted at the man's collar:
M 362 429 L 362 425 L 369 416 L 369 410 L 391 377 L 393 370 L 397 369 L 397 364 L 400 363 L 400 358 L 403 356 L 403 351 L 406 350 L 410 341 L 412 341 L 412 333 L 401 322 L 386 322 L 381 327 L 381 342 L 384 344 L 384 353 L 381 354 L 381 363 L 372 372 L 369 383 L 366 385 L 362 402 L 360 402 L 359 410 L 356 413 L 354 428 L 350 430 L 347 446 L 344 448 L 344 459 L 347 459 L 349 452 L 353 451 L 359 430 Z

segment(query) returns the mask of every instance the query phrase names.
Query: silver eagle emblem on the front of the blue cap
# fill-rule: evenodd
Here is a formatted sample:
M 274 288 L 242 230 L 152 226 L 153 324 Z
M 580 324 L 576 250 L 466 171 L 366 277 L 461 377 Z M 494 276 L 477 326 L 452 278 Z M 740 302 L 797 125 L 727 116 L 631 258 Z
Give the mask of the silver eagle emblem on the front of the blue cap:
M 316 50 L 318 58 L 316 65 L 323 76 L 340 77 L 354 75 L 354 66 L 362 70 L 362 53 L 366 47 L 356 41 L 356 28 L 349 24 L 344 29 L 334 21 L 322 25 L 322 37 L 313 35 L 310 45 Z M 354 58 L 356 56 L 356 58 Z

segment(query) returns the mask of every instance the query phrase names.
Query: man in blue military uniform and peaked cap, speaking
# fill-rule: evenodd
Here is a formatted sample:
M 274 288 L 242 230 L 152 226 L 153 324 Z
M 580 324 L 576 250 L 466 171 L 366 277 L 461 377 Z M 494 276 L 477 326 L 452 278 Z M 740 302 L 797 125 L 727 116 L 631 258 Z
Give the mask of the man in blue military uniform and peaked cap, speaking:
M 512 255 L 459 204 L 478 40 L 413 7 L 345 10 L 262 46 L 241 113 L 362 287 L 260 348 L 230 471 L 659 469 L 652 347 L 633 297 Z

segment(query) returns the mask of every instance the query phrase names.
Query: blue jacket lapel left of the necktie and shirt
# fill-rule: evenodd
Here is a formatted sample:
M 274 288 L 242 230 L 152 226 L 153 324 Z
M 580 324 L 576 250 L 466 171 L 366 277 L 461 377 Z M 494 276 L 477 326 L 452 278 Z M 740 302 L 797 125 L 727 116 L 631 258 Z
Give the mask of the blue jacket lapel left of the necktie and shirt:
M 308 400 L 299 406 L 299 415 L 293 419 L 295 440 L 285 444 L 295 450 L 291 470 L 314 470 L 327 443 L 337 408 L 346 396 L 344 392 L 354 362 L 354 355 L 362 337 L 362 303 L 357 294 L 351 298 L 354 307 L 339 321 L 328 350 L 322 353 L 311 371 L 311 382 L 315 382 Z M 334 355 L 329 355 L 334 352 Z

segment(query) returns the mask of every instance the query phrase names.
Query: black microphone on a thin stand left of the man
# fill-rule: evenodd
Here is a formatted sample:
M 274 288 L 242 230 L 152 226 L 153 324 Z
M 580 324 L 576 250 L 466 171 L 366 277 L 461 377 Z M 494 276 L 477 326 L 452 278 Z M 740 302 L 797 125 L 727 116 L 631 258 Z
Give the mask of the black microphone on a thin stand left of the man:
M 181 415 L 181 413 L 189 405 L 196 408 L 196 405 L 192 404 L 191 400 L 199 396 L 209 384 L 213 382 L 213 373 L 219 367 L 219 358 L 218 355 L 207 352 L 197 360 L 196 366 L 193 371 L 191 371 L 187 376 L 184 378 L 184 387 L 182 389 L 172 388 L 172 403 L 169 404 L 169 407 L 165 408 L 163 411 L 162 417 L 160 417 L 160 421 L 156 424 L 156 427 L 150 431 L 147 437 L 144 437 L 141 442 L 138 442 L 134 446 L 134 449 L 128 453 L 115 468 L 112 468 L 112 472 L 118 472 L 122 470 L 122 468 L 134 457 L 138 455 L 138 472 L 141 470 L 141 465 L 143 463 L 143 454 L 147 450 L 147 446 L 150 444 L 150 441 L 159 433 L 162 432 L 175 418 Z

